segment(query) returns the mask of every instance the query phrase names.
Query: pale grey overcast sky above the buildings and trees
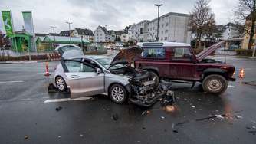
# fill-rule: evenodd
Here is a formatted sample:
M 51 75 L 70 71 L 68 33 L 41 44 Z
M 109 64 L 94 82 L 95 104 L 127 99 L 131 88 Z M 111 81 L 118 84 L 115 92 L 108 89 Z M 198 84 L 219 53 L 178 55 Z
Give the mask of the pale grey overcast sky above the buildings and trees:
M 65 21 L 72 21 L 71 28 L 90 28 L 107 25 L 107 29 L 120 30 L 142 20 L 152 20 L 157 16 L 155 3 L 162 3 L 160 15 L 170 11 L 189 14 L 195 0 L 0 0 L 0 10 L 12 11 L 15 31 L 24 25 L 21 11 L 32 11 L 35 32 L 67 30 Z M 212 0 L 217 24 L 232 21 L 232 13 L 238 0 Z M 2 15 L 0 30 L 3 31 Z M 4 31 L 5 32 L 5 31 Z

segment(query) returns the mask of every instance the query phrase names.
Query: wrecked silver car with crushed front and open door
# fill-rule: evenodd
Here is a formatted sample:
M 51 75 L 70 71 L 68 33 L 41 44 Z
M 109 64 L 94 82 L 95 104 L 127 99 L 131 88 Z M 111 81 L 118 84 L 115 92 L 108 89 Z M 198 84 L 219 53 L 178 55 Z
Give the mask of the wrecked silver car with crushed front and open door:
M 59 48 L 58 51 L 63 50 Z M 142 51 L 140 47 L 131 47 L 119 51 L 114 57 L 84 56 L 79 49 L 65 51 L 54 71 L 54 87 L 60 91 L 69 89 L 71 98 L 108 93 L 115 103 L 129 100 L 141 106 L 151 106 L 167 93 L 166 85 L 170 83 L 158 85 L 152 73 L 131 67 Z M 74 57 L 74 54 L 78 56 Z

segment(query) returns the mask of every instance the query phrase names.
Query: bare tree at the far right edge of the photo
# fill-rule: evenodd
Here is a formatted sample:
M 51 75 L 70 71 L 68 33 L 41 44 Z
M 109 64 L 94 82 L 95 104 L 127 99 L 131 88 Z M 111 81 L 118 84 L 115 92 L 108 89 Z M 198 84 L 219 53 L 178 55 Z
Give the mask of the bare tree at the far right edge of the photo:
M 250 37 L 248 49 L 251 50 L 254 34 L 256 33 L 256 0 L 239 0 L 238 8 L 235 11 L 235 16 L 240 21 L 244 21 L 245 19 L 249 20 L 248 23 L 245 24 L 245 32 Z

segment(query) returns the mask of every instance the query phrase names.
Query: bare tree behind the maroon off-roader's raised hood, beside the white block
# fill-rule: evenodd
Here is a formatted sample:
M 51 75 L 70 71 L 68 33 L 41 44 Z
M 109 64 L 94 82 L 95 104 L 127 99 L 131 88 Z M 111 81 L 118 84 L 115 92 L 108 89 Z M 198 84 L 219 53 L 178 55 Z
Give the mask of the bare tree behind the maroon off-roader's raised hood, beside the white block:
M 210 0 L 197 0 L 191 12 L 192 17 L 189 19 L 189 28 L 195 33 L 195 48 L 199 43 L 201 47 L 201 39 L 207 34 L 208 29 L 215 26 L 215 15 L 209 6 Z

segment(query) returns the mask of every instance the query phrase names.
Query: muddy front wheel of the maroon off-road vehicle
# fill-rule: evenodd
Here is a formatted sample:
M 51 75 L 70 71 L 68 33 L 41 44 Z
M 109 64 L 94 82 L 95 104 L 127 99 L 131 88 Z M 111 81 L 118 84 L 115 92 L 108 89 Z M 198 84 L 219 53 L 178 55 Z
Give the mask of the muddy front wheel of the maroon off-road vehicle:
M 218 74 L 209 75 L 202 81 L 202 88 L 208 93 L 221 94 L 227 87 L 228 81 Z

